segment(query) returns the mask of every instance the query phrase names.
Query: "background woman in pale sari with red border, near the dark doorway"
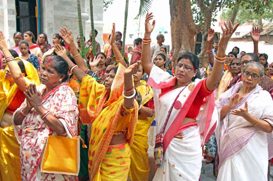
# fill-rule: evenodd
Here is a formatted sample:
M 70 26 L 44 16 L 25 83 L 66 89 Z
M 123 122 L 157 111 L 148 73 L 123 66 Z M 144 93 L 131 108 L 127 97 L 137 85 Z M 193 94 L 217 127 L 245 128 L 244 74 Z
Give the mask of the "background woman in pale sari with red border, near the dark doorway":
M 42 59 L 43 52 L 38 44 L 36 44 L 35 37 L 31 31 L 24 32 L 24 40 L 29 44 L 29 50 L 31 54 L 36 55 L 39 59 Z

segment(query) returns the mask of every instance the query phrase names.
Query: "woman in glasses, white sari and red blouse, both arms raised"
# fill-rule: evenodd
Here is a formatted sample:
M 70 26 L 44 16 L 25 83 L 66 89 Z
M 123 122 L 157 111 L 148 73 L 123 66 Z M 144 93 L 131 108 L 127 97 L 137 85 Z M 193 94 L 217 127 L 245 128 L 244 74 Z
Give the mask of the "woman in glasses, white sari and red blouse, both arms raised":
M 217 52 L 221 61 L 215 62 L 210 77 L 200 80 L 199 59 L 189 52 L 180 55 L 176 61 L 175 77 L 153 65 L 149 44 L 155 26 L 155 20 L 149 23 L 152 18 L 152 13 L 147 13 L 141 64 L 149 75 L 148 85 L 153 88 L 156 134 L 162 132 L 169 118 L 163 133 L 163 162 L 153 180 L 197 181 L 202 166 L 202 145 L 217 126 L 218 117 L 212 93 L 224 68 L 226 45 L 238 25 L 233 27 L 229 22 L 230 28 L 226 24 L 226 29 L 222 27 L 223 36 Z M 208 30 L 208 34 L 209 38 L 213 38 L 214 30 Z M 200 135 L 204 136 L 203 139 Z

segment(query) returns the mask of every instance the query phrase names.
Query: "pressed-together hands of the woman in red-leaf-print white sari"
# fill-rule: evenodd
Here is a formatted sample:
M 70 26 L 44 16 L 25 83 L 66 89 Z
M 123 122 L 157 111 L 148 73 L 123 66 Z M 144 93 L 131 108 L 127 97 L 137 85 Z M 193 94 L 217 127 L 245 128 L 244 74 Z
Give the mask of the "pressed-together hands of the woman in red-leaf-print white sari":
M 37 108 L 42 106 L 42 95 L 36 90 L 36 85 L 30 83 L 29 86 L 26 87 L 26 91 L 24 92 L 27 99 L 28 108 Z

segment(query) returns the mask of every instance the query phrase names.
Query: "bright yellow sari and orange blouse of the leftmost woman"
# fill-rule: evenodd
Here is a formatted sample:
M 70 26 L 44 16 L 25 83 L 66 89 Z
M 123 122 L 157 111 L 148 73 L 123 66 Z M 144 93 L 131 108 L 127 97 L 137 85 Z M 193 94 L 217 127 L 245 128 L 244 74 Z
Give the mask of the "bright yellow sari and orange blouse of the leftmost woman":
M 35 83 L 39 86 L 40 80 L 35 67 L 28 61 L 22 61 L 27 73 L 27 76 L 24 77 L 26 82 L 28 84 Z M 5 73 L 6 69 L 4 72 L 0 72 L 0 121 L 8 108 L 10 108 L 10 111 L 13 111 L 20 107 L 22 103 L 19 98 L 14 100 L 17 93 L 21 90 L 16 84 L 10 86 L 9 81 L 5 79 Z M 20 95 L 22 96 L 22 94 Z M 0 181 L 17 180 L 21 180 L 20 144 L 14 135 L 14 127 L 8 126 L 4 129 L 0 128 Z

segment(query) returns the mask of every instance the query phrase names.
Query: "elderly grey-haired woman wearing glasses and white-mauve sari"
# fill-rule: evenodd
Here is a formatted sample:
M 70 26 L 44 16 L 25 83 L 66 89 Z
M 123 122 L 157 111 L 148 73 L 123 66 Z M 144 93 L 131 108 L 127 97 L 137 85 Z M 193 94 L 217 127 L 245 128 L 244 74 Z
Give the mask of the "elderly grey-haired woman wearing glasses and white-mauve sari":
M 217 181 L 267 180 L 267 161 L 273 156 L 273 140 L 267 139 L 267 133 L 272 133 L 273 101 L 259 86 L 264 79 L 264 66 L 251 61 L 241 77 L 242 81 L 221 94 L 215 103 L 221 120 L 215 131 Z M 268 136 L 272 138 L 272 134 Z

